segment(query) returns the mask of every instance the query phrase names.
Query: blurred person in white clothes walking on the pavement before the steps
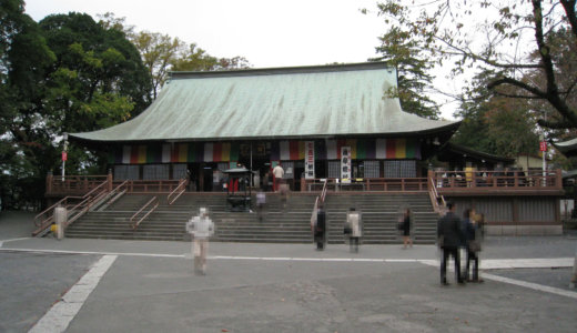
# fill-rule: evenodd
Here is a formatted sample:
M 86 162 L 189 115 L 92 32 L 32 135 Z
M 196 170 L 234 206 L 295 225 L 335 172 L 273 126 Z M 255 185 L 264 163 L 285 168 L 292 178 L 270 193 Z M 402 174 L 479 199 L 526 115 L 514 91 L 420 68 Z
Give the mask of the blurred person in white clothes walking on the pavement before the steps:
M 205 208 L 201 208 L 200 214 L 189 220 L 186 231 L 193 238 L 194 273 L 205 275 L 209 238 L 214 234 L 214 223 L 209 218 L 209 211 Z

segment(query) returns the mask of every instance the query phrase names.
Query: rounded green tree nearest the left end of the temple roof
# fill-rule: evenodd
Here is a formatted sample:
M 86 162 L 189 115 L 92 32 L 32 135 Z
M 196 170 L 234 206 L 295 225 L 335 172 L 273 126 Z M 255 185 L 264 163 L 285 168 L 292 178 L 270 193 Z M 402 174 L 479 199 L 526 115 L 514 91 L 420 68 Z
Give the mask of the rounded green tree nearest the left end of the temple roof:
M 44 82 L 47 138 L 57 141 L 63 132 L 111 127 L 145 109 L 148 70 L 124 32 L 82 13 L 49 16 L 39 24 L 57 56 Z M 58 155 L 52 159 L 58 160 Z M 69 174 L 105 171 L 104 155 L 80 148 L 71 148 L 69 161 Z

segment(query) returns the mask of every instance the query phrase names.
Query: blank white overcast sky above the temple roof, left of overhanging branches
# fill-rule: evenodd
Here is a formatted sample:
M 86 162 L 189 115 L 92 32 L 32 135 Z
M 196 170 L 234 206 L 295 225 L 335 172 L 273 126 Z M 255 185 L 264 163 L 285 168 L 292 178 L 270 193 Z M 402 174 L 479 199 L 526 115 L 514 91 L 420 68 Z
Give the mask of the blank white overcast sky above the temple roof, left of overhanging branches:
M 178 37 L 219 58 L 242 56 L 254 68 L 365 62 L 378 56 L 386 30 L 375 0 L 26 0 L 36 21 L 70 11 L 94 20 L 112 12 L 136 31 Z

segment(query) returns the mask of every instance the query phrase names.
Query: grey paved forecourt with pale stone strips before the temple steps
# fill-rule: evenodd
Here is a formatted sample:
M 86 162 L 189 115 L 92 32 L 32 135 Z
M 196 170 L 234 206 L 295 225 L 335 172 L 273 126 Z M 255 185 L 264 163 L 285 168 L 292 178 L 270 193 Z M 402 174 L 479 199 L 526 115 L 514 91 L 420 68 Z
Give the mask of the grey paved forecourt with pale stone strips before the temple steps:
M 0 332 L 575 332 L 577 239 L 488 238 L 485 283 L 438 283 L 422 245 L 190 244 L 29 239 L 0 215 Z M 36 325 L 36 326 L 34 326 Z

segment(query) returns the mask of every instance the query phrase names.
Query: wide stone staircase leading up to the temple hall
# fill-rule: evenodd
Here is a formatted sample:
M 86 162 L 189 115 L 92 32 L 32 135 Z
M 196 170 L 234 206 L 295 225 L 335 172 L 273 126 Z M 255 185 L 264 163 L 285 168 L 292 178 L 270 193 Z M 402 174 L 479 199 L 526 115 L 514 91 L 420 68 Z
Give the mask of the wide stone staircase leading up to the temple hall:
M 266 243 L 311 243 L 311 213 L 316 194 L 292 193 L 284 209 L 281 198 L 267 193 L 264 219 L 259 221 L 256 212 L 227 212 L 224 193 L 185 193 L 172 205 L 166 195 L 159 196 L 159 208 L 150 214 L 136 230 L 129 223 L 152 194 L 125 194 L 103 211 L 87 213 L 71 224 L 68 238 L 120 239 L 120 240 L 164 240 L 189 241 L 185 222 L 198 214 L 201 206 L 209 209 L 216 225 L 213 241 L 222 242 L 266 242 Z M 253 202 L 254 202 L 253 198 Z M 425 194 L 383 193 L 330 193 L 325 209 L 328 221 L 328 242 L 343 243 L 343 223 L 346 211 L 355 206 L 363 213 L 365 244 L 398 243 L 396 221 L 399 206 L 408 205 L 415 218 L 415 243 L 433 243 L 437 216 Z

